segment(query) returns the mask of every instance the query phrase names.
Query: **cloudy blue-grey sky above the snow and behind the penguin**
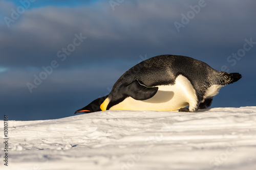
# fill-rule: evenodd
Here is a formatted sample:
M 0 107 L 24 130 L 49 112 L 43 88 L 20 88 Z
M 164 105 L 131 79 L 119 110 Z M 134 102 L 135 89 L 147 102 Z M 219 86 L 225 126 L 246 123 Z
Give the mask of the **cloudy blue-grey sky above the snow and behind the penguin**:
M 74 115 L 137 63 L 189 56 L 243 78 L 212 107 L 255 106 L 255 1 L 0 1 L 0 105 L 12 120 Z M 0 119 L 3 119 L 0 117 Z

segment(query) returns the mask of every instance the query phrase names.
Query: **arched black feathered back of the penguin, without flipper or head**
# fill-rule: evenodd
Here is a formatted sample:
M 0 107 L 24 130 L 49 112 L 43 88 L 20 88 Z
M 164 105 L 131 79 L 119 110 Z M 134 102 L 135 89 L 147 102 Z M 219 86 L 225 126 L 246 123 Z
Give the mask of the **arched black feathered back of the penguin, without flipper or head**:
M 114 84 L 110 96 L 111 101 L 120 102 L 123 86 L 135 80 L 143 82 L 148 87 L 172 85 L 179 75 L 186 77 L 195 88 L 199 101 L 205 90 L 212 84 L 223 84 L 225 79 L 222 71 L 211 68 L 208 64 L 185 56 L 161 55 L 152 57 L 127 70 Z

